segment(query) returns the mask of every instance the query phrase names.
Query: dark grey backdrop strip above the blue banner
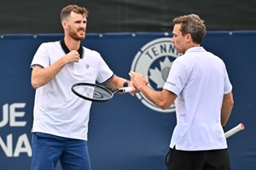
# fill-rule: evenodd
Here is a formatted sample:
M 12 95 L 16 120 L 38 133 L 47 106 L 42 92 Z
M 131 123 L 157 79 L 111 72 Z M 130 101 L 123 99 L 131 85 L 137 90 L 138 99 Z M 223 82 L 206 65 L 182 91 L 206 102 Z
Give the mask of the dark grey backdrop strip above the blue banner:
M 60 33 L 61 8 L 68 4 L 89 9 L 87 32 L 171 31 L 174 17 L 191 13 L 209 31 L 256 29 L 254 0 L 1 0 L 0 34 Z

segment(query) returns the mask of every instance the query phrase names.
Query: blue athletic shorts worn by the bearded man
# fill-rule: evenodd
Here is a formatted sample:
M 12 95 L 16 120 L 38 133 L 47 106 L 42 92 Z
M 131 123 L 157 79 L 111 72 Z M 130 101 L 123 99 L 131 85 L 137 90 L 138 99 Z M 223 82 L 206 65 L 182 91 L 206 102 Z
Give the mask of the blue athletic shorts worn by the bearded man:
M 91 170 L 87 141 L 48 133 L 32 133 L 32 170 Z

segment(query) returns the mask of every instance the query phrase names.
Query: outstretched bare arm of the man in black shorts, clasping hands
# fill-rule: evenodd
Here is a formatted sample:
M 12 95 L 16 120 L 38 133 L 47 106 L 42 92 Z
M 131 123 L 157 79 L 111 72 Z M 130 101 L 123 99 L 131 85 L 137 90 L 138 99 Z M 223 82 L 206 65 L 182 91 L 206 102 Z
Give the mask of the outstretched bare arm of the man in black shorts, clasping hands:
M 131 71 L 129 73 L 131 81 L 134 83 L 135 87 L 154 105 L 158 105 L 161 109 L 167 109 L 172 105 L 177 95 L 169 90 L 163 89 L 162 91 L 154 91 L 149 88 L 145 82 L 143 82 L 143 75 Z

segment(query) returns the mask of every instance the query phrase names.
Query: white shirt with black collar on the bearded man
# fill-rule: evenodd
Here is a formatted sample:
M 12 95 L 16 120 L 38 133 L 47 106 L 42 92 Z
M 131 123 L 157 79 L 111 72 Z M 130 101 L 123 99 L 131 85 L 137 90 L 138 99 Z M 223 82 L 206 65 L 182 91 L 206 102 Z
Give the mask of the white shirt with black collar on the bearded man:
M 108 82 L 113 71 L 99 53 L 80 48 L 84 53 L 79 63 L 65 65 L 54 79 L 36 90 L 32 132 L 87 140 L 91 102 L 73 94 L 71 87 L 77 82 Z M 65 54 L 61 42 L 44 42 L 31 65 L 46 68 Z

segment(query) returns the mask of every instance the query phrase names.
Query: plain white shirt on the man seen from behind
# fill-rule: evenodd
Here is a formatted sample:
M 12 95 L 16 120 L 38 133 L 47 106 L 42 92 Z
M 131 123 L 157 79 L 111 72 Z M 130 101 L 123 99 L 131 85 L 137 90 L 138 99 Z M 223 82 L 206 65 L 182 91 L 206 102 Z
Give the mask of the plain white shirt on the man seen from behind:
M 220 110 L 224 94 L 230 93 L 232 86 L 222 59 L 202 47 L 189 48 L 173 62 L 164 88 L 177 94 L 177 126 L 171 148 L 227 148 Z

